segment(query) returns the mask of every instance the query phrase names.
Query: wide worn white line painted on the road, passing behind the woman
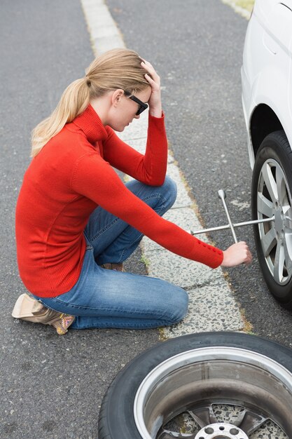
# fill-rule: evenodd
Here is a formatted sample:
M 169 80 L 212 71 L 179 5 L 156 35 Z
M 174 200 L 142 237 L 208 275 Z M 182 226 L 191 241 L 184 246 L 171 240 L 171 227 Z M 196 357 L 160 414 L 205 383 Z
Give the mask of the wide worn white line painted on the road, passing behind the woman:
M 81 3 L 95 54 L 104 53 L 114 47 L 125 47 L 104 1 L 81 0 Z M 141 153 L 144 153 L 146 145 L 147 122 L 148 114 L 144 112 L 139 121 L 134 119 L 120 135 Z M 167 174 L 177 184 L 178 197 L 165 217 L 185 230 L 202 228 L 195 215 L 194 201 L 188 196 L 180 170 L 171 155 L 169 155 Z M 200 239 L 207 242 L 206 236 L 200 235 Z M 163 339 L 194 332 L 244 330 L 244 320 L 239 306 L 221 269 L 212 270 L 174 255 L 146 237 L 143 239 L 142 250 L 148 260 L 149 276 L 180 285 L 188 291 L 190 297 L 188 316 L 177 325 L 162 328 L 160 336 Z

